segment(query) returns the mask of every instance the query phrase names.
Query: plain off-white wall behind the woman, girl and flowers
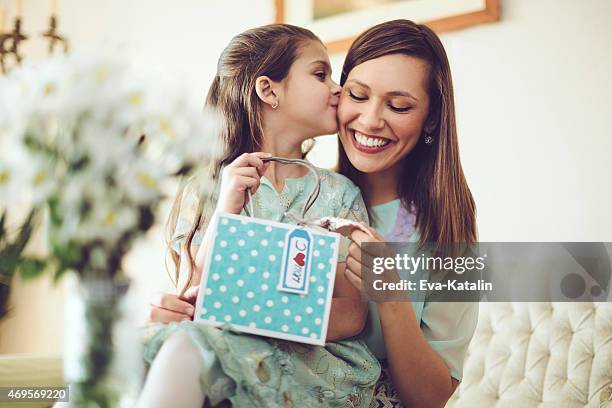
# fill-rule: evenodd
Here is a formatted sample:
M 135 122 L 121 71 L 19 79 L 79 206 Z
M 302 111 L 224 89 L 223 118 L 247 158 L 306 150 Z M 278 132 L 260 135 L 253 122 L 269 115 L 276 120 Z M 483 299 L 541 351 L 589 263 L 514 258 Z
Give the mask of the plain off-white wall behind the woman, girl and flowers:
M 6 27 L 13 2 L 0 6 Z M 273 22 L 275 13 L 273 0 L 60 0 L 58 7 L 72 50 L 178 76 L 196 104 L 231 37 Z M 612 241 L 612 2 L 502 0 L 501 7 L 498 23 L 441 35 L 480 240 Z M 48 15 L 47 1 L 23 0 L 26 33 L 42 32 Z M 23 51 L 40 59 L 44 47 L 33 39 Z M 336 80 L 343 58 L 331 56 Z M 321 138 L 311 160 L 332 166 L 335 143 Z M 150 294 L 173 289 L 164 253 L 157 226 L 126 265 L 143 319 Z M 42 279 L 13 288 L 0 353 L 61 353 L 67 285 Z

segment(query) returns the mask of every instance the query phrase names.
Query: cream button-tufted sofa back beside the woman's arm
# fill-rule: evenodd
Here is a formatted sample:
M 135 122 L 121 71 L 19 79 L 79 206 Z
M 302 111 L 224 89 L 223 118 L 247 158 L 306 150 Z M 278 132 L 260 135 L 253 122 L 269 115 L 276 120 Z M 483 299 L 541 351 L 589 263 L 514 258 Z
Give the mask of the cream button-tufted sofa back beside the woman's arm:
M 482 303 L 447 407 L 612 407 L 609 387 L 612 303 Z

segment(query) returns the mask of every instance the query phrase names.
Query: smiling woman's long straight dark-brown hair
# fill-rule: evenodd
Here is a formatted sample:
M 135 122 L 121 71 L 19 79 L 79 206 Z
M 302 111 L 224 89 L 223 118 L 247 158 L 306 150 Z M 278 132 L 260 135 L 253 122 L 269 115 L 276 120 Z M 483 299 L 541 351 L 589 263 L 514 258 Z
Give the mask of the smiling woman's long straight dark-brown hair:
M 425 61 L 429 67 L 429 117 L 435 123 L 434 142 L 421 137 L 403 159 L 402 177 L 397 186 L 403 205 L 417 210 L 420 243 L 434 243 L 446 251 L 450 244 L 472 244 L 477 240 L 476 206 L 467 185 L 457 142 L 455 104 L 450 66 L 438 36 L 427 26 L 409 20 L 376 25 L 351 45 L 340 85 L 359 64 L 385 55 L 402 54 Z M 348 160 L 339 144 L 339 171 L 360 186 L 361 173 Z M 360 186 L 361 187 L 361 186 Z

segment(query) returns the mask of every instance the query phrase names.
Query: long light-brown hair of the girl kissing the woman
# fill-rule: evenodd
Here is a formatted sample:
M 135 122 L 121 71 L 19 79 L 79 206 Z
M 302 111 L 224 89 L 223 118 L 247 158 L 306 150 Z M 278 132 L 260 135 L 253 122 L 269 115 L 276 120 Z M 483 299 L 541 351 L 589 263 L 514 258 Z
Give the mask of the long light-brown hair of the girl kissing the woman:
M 263 123 L 260 99 L 255 82 L 260 76 L 282 81 L 298 57 L 300 48 L 310 41 L 321 42 L 311 31 L 289 25 L 270 24 L 238 34 L 223 50 L 217 63 L 217 73 L 208 90 L 205 108 L 221 117 L 223 152 L 203 177 L 217 181 L 220 170 L 243 153 L 258 151 L 262 147 Z M 193 180 L 192 180 L 193 181 Z M 196 216 L 186 234 L 175 235 L 177 220 L 185 187 L 179 189 L 166 223 L 166 242 L 174 263 L 174 282 L 178 285 L 181 267 L 180 255 L 172 251 L 174 242 L 181 242 L 181 251 L 189 258 L 188 278 L 181 295 L 191 286 L 194 260 L 191 243 L 196 231 L 206 224 L 205 207 L 210 208 L 211 197 L 200 195 Z

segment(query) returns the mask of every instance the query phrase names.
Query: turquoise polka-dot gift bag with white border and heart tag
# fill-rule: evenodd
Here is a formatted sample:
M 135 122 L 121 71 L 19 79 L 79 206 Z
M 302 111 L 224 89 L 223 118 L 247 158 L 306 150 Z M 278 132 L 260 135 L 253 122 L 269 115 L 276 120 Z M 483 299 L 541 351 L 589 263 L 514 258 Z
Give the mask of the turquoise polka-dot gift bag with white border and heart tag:
M 324 345 L 340 236 L 233 214 L 209 228 L 195 320 Z

